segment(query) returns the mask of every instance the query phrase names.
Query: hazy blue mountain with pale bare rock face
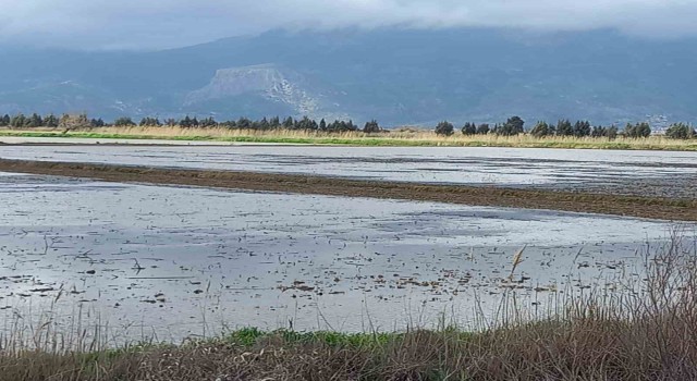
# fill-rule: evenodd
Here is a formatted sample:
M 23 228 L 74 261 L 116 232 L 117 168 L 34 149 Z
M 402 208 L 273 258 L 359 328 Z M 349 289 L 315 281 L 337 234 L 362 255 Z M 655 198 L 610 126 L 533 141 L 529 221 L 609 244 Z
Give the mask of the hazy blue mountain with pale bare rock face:
M 383 125 L 512 114 L 697 120 L 697 39 L 613 30 L 274 30 L 152 52 L 0 47 L 0 57 L 2 113 L 279 114 Z

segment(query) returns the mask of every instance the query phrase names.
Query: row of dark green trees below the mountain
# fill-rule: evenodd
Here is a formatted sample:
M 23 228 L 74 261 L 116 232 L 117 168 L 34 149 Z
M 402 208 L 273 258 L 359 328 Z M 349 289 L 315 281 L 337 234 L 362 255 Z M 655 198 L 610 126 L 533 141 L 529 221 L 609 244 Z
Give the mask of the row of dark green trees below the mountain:
M 37 113 L 24 115 L 19 113 L 14 116 L 4 114 L 0 116 L 0 127 L 13 128 L 32 128 L 32 127 L 62 127 L 66 130 L 78 127 L 103 127 L 103 126 L 181 126 L 184 128 L 206 128 L 206 127 L 227 127 L 237 130 L 295 130 L 295 131 L 321 131 L 321 132 L 364 132 L 364 133 L 381 133 L 382 127 L 377 121 L 367 122 L 363 128 L 354 124 L 353 121 L 334 120 L 327 122 L 325 119 L 317 122 L 316 120 L 304 116 L 294 119 L 292 116 L 281 120 L 279 116 L 262 118 L 260 120 L 250 120 L 248 118 L 240 118 L 237 120 L 218 122 L 213 118 L 208 116 L 198 119 L 196 116 L 186 115 L 183 119 L 164 119 L 160 120 L 156 116 L 146 116 L 136 123 L 129 116 L 118 118 L 112 124 L 106 123 L 102 119 L 88 119 L 86 114 L 62 114 L 60 118 L 53 114 L 41 116 Z M 514 136 L 521 134 L 530 134 L 535 137 L 546 136 L 573 136 L 573 137 L 606 137 L 616 138 L 619 135 L 641 138 L 651 135 L 651 126 L 649 123 L 639 122 L 627 125 L 620 131 L 616 126 L 591 125 L 588 121 L 576 121 L 572 123 L 570 120 L 560 120 L 557 123 L 548 123 L 545 121 L 537 122 L 533 128 L 526 132 L 525 121 L 519 116 L 511 116 L 505 123 L 497 123 L 490 125 L 488 123 L 465 123 L 460 131 L 463 135 L 501 135 Z M 455 133 L 455 126 L 442 121 L 435 127 L 435 132 L 441 136 L 451 136 Z M 675 139 L 697 138 L 697 131 L 686 123 L 674 123 L 667 131 L 665 136 Z

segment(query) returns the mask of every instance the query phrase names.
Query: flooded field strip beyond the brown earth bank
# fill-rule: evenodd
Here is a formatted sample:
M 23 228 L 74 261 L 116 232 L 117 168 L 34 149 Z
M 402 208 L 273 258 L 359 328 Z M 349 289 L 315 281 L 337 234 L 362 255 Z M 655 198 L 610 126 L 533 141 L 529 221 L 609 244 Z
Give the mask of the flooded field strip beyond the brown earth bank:
M 0 158 L 697 198 L 694 152 L 444 147 L 7 146 Z

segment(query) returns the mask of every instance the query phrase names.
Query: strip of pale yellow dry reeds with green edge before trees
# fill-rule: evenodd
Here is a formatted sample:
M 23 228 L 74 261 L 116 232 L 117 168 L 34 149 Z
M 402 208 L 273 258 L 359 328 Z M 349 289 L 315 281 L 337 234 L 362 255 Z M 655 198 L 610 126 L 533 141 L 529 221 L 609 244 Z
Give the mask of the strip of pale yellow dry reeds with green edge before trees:
M 697 140 L 669 139 L 662 136 L 615 139 L 602 137 L 565 137 L 531 135 L 463 135 L 444 137 L 431 131 L 406 131 L 380 134 L 360 132 L 326 133 L 289 130 L 231 130 L 224 127 L 95 127 L 63 133 L 57 130 L 0 130 L 0 136 L 144 139 L 174 142 L 223 142 L 260 144 L 308 144 L 384 147 L 512 147 L 512 148 L 566 148 L 566 149 L 620 149 L 620 150 L 676 150 L 697 151 Z M 108 143 L 108 142 L 105 142 Z

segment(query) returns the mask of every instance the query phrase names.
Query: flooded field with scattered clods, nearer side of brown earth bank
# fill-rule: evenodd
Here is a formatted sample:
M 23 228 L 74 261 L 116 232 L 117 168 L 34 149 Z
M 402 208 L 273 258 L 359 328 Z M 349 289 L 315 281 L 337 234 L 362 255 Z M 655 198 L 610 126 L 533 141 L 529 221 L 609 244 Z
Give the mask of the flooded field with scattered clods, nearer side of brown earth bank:
M 50 316 L 69 327 L 99 320 L 131 340 L 247 325 L 391 331 L 442 316 L 467 325 L 493 318 L 511 290 L 535 311 L 571 291 L 638 281 L 637 250 L 671 230 L 603 216 L 7 173 L 0 208 L 5 329 Z

